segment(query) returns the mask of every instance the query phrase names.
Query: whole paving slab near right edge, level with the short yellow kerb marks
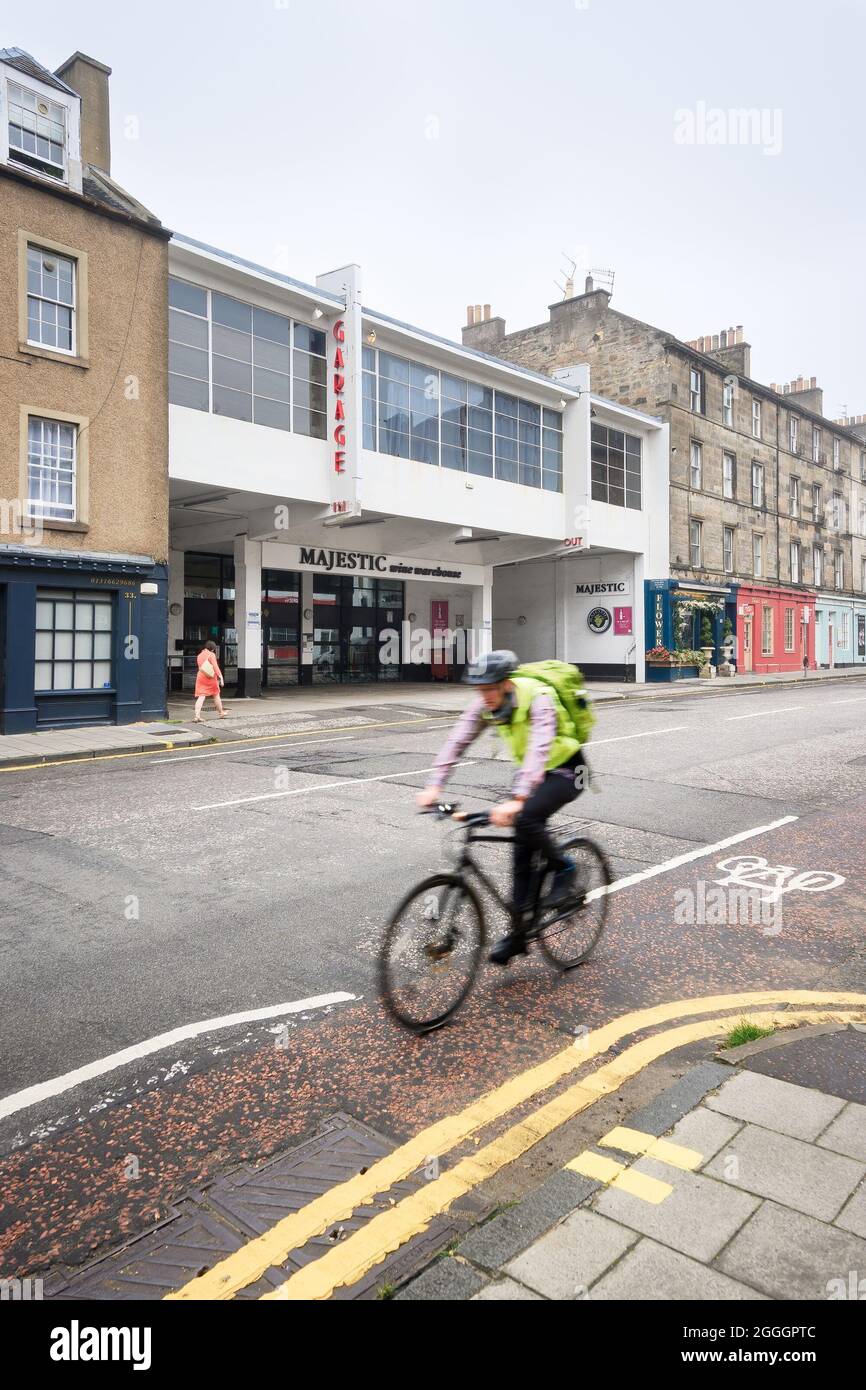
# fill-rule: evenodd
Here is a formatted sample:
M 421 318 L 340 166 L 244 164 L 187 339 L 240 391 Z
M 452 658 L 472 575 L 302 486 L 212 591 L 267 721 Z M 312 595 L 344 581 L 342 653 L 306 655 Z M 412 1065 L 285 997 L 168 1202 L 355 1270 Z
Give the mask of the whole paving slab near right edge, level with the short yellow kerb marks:
M 808 1216 L 833 1220 L 866 1177 L 866 1165 L 788 1134 L 746 1125 L 705 1172 Z

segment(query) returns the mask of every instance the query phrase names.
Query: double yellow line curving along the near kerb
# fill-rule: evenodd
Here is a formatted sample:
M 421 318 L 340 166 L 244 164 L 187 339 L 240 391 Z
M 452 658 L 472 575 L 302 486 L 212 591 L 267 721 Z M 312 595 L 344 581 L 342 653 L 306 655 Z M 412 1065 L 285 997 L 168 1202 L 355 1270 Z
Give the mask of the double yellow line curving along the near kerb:
M 588 1033 L 577 1044 L 539 1066 L 506 1081 L 457 1115 L 450 1115 L 421 1130 L 414 1138 L 368 1168 L 366 1173 L 359 1173 L 314 1198 L 299 1212 L 277 1222 L 263 1236 L 249 1241 L 199 1279 L 193 1279 L 177 1293 L 168 1294 L 167 1298 L 181 1301 L 232 1298 L 240 1289 L 246 1289 L 260 1279 L 267 1269 L 281 1265 L 292 1250 L 297 1250 L 313 1237 L 324 1234 L 335 1223 L 348 1220 L 357 1208 L 368 1205 L 378 1194 L 388 1193 L 395 1183 L 409 1177 L 431 1156 L 441 1158 L 450 1152 L 460 1143 L 473 1137 L 477 1130 L 549 1090 L 571 1072 L 607 1052 L 624 1037 L 677 1019 L 702 1013 L 716 1015 L 710 1019 L 670 1027 L 663 1033 L 634 1042 L 614 1061 L 581 1077 L 574 1086 L 535 1109 L 524 1120 L 513 1125 L 484 1148 L 461 1159 L 455 1168 L 427 1183 L 410 1197 L 396 1202 L 389 1211 L 374 1216 L 360 1230 L 289 1276 L 279 1289 L 264 1295 L 267 1300 L 278 1301 L 328 1298 L 335 1289 L 356 1283 L 386 1255 L 425 1230 L 430 1222 L 448 1211 L 457 1198 L 514 1162 L 560 1125 L 594 1105 L 601 1097 L 619 1090 L 649 1062 L 687 1042 L 723 1033 L 731 1022 L 730 1011 L 733 1009 L 756 1009 L 765 1005 L 801 1009 L 812 1005 L 812 1008 L 798 1013 L 763 1012 L 749 1015 L 751 1020 L 762 1027 L 784 1027 L 794 1022 L 824 1022 L 828 1016 L 844 1023 L 866 1019 L 866 995 L 813 990 L 719 994 L 699 999 L 677 999 L 671 1004 L 626 1013 Z M 828 1015 L 827 1009 L 842 1009 L 844 1012 Z

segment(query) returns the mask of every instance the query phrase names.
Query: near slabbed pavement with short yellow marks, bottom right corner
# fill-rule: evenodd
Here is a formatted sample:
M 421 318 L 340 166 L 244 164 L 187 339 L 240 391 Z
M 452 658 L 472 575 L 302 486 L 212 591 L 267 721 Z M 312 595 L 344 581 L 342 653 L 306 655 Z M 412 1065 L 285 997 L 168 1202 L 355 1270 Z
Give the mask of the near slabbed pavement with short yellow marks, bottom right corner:
M 392 1295 L 866 1300 L 866 1027 L 691 1068 Z

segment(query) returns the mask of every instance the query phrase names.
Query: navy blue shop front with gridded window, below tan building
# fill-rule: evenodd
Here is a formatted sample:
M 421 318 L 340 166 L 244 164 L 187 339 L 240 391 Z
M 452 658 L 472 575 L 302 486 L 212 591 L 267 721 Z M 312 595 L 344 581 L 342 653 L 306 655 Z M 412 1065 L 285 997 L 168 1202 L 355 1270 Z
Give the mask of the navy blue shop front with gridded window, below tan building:
M 0 733 L 165 717 L 168 571 L 0 546 Z

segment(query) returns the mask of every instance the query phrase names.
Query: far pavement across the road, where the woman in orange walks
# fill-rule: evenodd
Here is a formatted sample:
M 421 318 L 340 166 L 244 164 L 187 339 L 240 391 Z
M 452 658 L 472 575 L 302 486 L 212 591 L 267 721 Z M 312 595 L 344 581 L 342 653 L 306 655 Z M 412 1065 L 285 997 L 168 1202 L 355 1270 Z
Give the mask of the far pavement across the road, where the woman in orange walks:
M 669 701 L 696 692 L 708 695 L 734 694 L 774 685 L 808 688 L 816 682 L 866 678 L 866 666 L 827 671 L 778 676 L 737 676 L 730 680 L 688 680 L 673 684 L 651 682 L 635 685 L 627 681 L 592 681 L 589 694 L 596 703 L 612 701 Z M 204 714 L 202 728 L 192 724 L 193 696 L 171 695 L 165 723 L 99 726 L 92 728 L 46 730 L 36 734 L 0 735 L 0 769 L 28 764 L 47 764 L 78 758 L 104 758 L 117 753 L 139 753 L 154 749 L 196 746 L 214 738 L 256 738 L 270 733 L 303 728 L 331 728 L 352 724 L 354 713 L 370 709 L 398 713 L 411 705 L 413 712 L 450 713 L 466 703 L 466 692 L 459 684 L 406 682 L 385 685 L 335 685 L 293 688 L 268 692 L 257 699 L 224 701 L 227 717 Z

